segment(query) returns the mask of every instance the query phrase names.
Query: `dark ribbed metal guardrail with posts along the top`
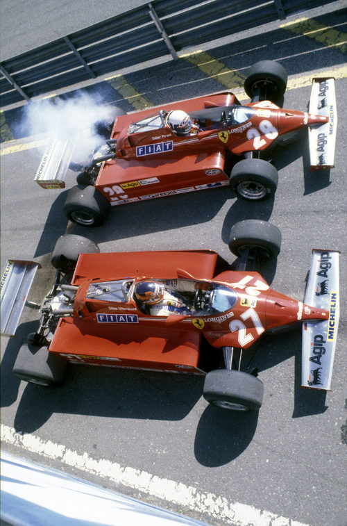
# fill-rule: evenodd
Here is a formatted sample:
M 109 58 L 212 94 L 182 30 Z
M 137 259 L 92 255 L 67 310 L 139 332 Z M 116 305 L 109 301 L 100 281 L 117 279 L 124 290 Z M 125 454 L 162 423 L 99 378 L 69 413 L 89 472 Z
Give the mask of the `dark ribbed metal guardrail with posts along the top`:
M 153 0 L 4 60 L 1 106 L 285 19 L 333 0 Z

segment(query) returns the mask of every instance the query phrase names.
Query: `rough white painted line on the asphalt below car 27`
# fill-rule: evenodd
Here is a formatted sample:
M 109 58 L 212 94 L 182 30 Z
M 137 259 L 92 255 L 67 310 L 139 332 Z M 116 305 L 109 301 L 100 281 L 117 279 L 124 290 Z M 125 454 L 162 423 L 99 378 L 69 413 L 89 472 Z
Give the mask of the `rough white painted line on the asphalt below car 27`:
M 182 482 L 157 477 L 135 468 L 123 467 L 117 462 L 106 459 L 92 459 L 87 453 L 78 454 L 65 445 L 43 441 L 33 434 L 19 434 L 12 427 L 3 424 L 1 424 L 1 442 L 3 445 L 22 447 L 40 454 L 42 458 L 59 460 L 65 466 L 73 466 L 127 488 L 134 488 L 167 502 L 205 513 L 232 526 L 308 526 L 270 511 L 239 502 L 230 502 L 215 493 L 198 491 L 194 486 L 187 486 Z

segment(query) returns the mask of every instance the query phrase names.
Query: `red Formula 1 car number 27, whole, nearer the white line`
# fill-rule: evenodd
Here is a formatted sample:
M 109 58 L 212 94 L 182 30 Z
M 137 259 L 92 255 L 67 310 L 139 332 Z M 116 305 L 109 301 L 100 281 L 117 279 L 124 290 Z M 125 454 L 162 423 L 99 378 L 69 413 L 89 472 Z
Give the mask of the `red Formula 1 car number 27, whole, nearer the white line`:
M 208 250 L 100 254 L 86 238 L 62 236 L 52 255 L 58 268 L 53 288 L 42 302 L 37 332 L 19 350 L 15 375 L 53 384 L 67 361 L 195 373 L 206 375 L 203 395 L 209 402 L 258 409 L 263 384 L 241 370 L 241 356 L 266 331 L 301 323 L 303 386 L 330 388 L 338 253 L 314 252 L 307 304 L 272 290 L 250 270 L 260 258 L 278 254 L 274 225 L 237 223 L 230 249 L 240 256 L 235 270 Z M 1 333 L 15 333 L 36 267 L 8 262 L 1 280 Z

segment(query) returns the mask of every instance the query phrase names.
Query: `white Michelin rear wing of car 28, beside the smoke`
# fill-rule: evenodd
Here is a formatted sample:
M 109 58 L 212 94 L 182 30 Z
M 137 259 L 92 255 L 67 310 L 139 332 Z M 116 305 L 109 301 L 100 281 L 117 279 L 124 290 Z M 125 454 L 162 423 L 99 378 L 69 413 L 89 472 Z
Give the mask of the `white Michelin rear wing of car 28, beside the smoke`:
M 67 135 L 67 138 L 54 135 L 46 147 L 34 179 L 42 188 L 65 188 L 65 175 L 79 134 L 73 138 L 71 133 Z

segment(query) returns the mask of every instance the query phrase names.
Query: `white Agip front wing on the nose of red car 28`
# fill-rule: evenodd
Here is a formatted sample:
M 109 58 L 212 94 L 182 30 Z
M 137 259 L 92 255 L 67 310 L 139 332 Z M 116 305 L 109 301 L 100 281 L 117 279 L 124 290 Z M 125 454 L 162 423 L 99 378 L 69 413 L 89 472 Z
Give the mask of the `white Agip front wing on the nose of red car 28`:
M 309 126 L 310 171 L 333 168 L 337 131 L 335 83 L 332 77 L 312 80 L 310 113 L 329 117 L 329 122 Z

